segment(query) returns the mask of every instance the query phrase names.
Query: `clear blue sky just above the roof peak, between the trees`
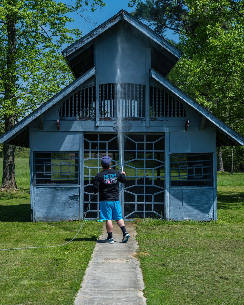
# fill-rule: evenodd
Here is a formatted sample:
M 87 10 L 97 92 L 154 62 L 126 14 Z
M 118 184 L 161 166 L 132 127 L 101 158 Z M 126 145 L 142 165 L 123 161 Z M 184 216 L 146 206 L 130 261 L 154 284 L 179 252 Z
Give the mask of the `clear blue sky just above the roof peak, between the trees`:
M 69 0 L 64 0 L 65 3 L 69 3 Z M 95 12 L 84 12 L 84 16 L 88 19 L 91 19 L 96 25 L 92 25 L 89 22 L 85 22 L 81 16 L 77 14 L 72 14 L 72 18 L 75 20 L 68 27 L 72 26 L 73 28 L 78 28 L 82 31 L 83 36 L 88 34 L 95 27 L 98 27 L 100 24 L 111 18 L 113 15 L 117 14 L 121 9 L 131 13 L 135 9 L 128 7 L 129 0 L 104 0 L 106 6 L 104 6 L 100 10 L 96 10 Z M 172 40 L 178 41 L 178 35 L 172 35 L 173 31 L 168 30 L 166 32 L 166 38 L 170 38 Z

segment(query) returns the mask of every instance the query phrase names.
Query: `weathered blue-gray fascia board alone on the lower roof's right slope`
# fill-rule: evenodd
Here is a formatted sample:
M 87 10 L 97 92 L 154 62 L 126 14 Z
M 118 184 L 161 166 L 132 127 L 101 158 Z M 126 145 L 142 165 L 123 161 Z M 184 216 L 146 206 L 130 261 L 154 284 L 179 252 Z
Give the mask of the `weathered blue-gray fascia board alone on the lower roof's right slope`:
M 239 135 L 234 129 L 229 127 L 219 118 L 215 117 L 211 112 L 205 109 L 202 105 L 192 99 L 189 95 L 187 95 L 184 91 L 179 89 L 165 77 L 157 73 L 154 69 L 151 69 L 150 77 L 154 78 L 160 84 L 162 84 L 167 90 L 173 92 L 178 98 L 184 101 L 187 105 L 194 108 L 196 111 L 205 116 L 210 122 L 212 122 L 220 131 L 222 131 L 228 138 L 234 140 L 238 145 L 244 146 L 244 137 Z

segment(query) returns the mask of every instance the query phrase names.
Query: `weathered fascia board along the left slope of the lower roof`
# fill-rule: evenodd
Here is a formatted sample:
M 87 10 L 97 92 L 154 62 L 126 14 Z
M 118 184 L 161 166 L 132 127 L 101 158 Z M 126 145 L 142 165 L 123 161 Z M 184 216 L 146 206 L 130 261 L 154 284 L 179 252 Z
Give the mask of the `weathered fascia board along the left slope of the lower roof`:
M 92 67 L 87 73 L 81 75 L 81 77 L 77 78 L 75 81 L 73 81 L 71 84 L 69 84 L 63 90 L 61 90 L 59 93 L 54 95 L 51 99 L 49 99 L 43 105 L 38 107 L 32 113 L 30 113 L 27 117 L 25 117 L 19 123 L 14 125 L 12 128 L 10 128 L 4 134 L 2 134 L 2 136 L 0 138 L 0 143 L 5 143 L 7 140 L 13 138 L 16 133 L 19 133 L 20 131 L 23 131 L 26 128 L 26 126 L 28 124 L 30 124 L 30 122 L 32 122 L 34 119 L 38 118 L 39 115 L 41 115 L 46 110 L 48 110 L 50 107 L 55 105 L 63 97 L 68 95 L 70 92 L 72 92 L 75 88 L 77 88 L 79 85 L 84 83 L 86 80 L 88 80 L 93 75 L 95 75 L 95 67 Z

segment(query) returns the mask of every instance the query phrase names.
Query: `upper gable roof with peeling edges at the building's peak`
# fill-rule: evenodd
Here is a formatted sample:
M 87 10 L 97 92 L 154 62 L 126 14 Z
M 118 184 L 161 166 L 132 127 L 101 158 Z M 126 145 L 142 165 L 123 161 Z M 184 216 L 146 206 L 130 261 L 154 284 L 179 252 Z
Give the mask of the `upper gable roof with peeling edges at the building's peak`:
M 89 59 L 93 60 L 93 43 L 95 43 L 95 38 L 120 21 L 124 24 L 129 23 L 132 27 L 140 31 L 143 35 L 147 36 L 151 41 L 151 45 L 153 46 L 153 48 L 157 48 L 159 55 L 163 58 L 164 62 L 167 61 L 169 70 L 171 70 L 181 58 L 181 50 L 172 45 L 169 41 L 167 41 L 159 34 L 155 33 L 152 29 L 150 29 L 144 23 L 133 17 L 130 13 L 126 12 L 125 10 L 121 10 L 109 20 L 102 23 L 90 33 L 80 38 L 62 51 L 63 56 L 65 57 L 66 62 L 68 63 L 70 70 L 72 71 L 75 77 L 79 76 L 79 73 L 76 71 L 75 67 L 76 63 L 82 63 L 83 65 L 85 65 L 89 55 Z M 167 74 L 168 73 L 169 71 L 167 71 Z

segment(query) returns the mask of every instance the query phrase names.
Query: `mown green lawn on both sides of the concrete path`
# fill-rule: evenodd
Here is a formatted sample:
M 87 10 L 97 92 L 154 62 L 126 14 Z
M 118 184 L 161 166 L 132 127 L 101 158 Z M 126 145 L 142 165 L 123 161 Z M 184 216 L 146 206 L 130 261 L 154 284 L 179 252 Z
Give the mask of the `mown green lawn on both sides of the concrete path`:
M 16 159 L 19 189 L 0 192 L 1 249 L 58 245 L 80 228 L 30 222 L 29 177 L 29 160 Z M 244 174 L 218 174 L 217 222 L 137 220 L 148 305 L 243 303 L 243 185 Z M 0 304 L 73 304 L 101 226 L 85 222 L 62 247 L 0 251 Z

